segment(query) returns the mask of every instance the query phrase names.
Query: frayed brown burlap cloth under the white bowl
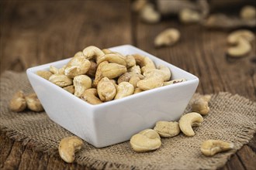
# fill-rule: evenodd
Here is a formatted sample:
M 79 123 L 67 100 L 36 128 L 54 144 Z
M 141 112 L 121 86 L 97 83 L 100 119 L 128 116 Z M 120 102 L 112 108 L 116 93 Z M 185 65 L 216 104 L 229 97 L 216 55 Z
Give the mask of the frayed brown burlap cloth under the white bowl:
M 37 151 L 57 155 L 58 142 L 72 135 L 47 117 L 47 114 L 26 110 L 15 113 L 8 103 L 17 90 L 32 92 L 25 73 L 5 72 L 1 76 L 1 131 L 15 140 L 32 143 Z M 195 95 L 196 97 L 196 95 Z M 53 101 L 54 104 L 54 101 Z M 214 94 L 209 102 L 210 113 L 202 126 L 195 128 L 194 137 L 182 133 L 174 138 L 162 138 L 157 151 L 136 153 L 129 141 L 106 148 L 95 148 L 86 141 L 76 155 L 76 162 L 92 168 L 114 169 L 215 169 L 223 166 L 230 155 L 246 144 L 256 129 L 256 103 L 230 93 Z M 190 106 L 186 111 L 189 111 Z M 200 144 L 206 139 L 234 142 L 231 151 L 211 158 L 200 152 Z M 57 155 L 58 156 L 58 155 Z

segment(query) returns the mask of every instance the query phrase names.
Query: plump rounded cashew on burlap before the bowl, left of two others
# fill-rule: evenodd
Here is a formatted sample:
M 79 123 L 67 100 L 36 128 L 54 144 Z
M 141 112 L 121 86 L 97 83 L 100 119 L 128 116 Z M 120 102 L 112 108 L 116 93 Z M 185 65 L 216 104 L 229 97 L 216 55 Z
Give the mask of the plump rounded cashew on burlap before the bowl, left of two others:
M 161 138 L 156 131 L 145 129 L 138 134 L 134 134 L 130 139 L 130 145 L 134 151 L 154 151 L 161 146 Z

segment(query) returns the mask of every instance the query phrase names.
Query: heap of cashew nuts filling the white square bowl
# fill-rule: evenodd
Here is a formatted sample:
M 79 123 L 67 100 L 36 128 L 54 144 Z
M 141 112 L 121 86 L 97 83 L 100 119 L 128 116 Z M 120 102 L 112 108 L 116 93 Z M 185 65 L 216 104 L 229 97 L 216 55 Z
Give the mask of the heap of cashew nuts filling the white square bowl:
M 185 81 L 171 80 L 171 70 L 167 66 L 155 66 L 147 56 L 123 56 L 96 46 L 88 46 L 76 53 L 61 68 L 50 66 L 49 70 L 40 70 L 36 74 L 89 104 L 102 104 Z

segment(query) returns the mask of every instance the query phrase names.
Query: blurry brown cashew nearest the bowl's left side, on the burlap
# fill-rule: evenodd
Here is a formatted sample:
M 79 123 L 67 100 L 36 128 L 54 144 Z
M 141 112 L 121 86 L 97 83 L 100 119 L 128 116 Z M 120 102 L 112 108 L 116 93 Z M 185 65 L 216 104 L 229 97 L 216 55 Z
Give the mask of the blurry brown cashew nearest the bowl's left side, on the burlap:
M 29 108 L 29 110 L 33 111 L 43 111 L 43 106 L 40 103 L 40 100 L 37 98 L 36 93 L 30 93 L 25 97 L 26 105 Z

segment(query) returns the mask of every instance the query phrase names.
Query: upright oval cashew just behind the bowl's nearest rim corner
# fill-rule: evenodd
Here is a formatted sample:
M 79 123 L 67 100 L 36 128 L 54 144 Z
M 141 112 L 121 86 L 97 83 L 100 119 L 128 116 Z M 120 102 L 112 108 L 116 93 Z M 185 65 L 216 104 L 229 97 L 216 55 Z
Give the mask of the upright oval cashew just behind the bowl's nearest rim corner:
M 116 96 L 116 87 L 108 77 L 103 77 L 99 81 L 97 90 L 99 98 L 102 101 L 112 100 Z

